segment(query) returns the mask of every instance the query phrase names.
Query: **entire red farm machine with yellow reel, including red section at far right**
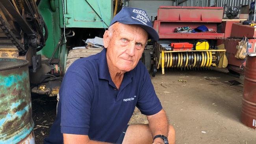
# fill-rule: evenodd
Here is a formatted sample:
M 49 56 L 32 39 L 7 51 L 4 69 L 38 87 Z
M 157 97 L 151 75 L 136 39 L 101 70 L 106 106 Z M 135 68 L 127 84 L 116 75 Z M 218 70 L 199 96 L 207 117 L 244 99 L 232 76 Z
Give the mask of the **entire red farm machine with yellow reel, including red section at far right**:
M 247 52 L 255 52 L 254 27 L 240 23 L 248 18 L 248 6 L 237 7 L 237 13 L 230 9 L 226 6 L 159 7 L 154 29 L 160 40 L 154 43 L 152 57 L 147 56 L 149 54 L 143 57 L 152 76 L 157 69 L 164 74 L 166 69 L 206 70 L 213 67 L 227 67 L 243 74 L 245 60 L 234 55 L 243 36 L 249 37 Z

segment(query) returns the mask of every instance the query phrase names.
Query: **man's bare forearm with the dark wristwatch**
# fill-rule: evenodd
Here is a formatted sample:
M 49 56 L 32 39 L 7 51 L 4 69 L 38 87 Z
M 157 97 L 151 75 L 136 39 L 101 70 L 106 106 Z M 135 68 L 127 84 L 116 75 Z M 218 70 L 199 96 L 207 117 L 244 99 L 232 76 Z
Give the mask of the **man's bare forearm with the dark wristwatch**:
M 147 116 L 148 119 L 148 125 L 150 128 L 150 131 L 152 133 L 152 137 L 156 136 L 156 135 L 164 135 L 165 137 L 168 136 L 168 120 L 167 120 L 167 116 L 165 114 L 165 111 L 163 109 L 161 109 L 161 111 L 159 111 L 156 114 Z M 156 138 L 154 140 L 154 143 L 156 142 L 156 144 L 163 144 L 163 139 L 161 138 Z

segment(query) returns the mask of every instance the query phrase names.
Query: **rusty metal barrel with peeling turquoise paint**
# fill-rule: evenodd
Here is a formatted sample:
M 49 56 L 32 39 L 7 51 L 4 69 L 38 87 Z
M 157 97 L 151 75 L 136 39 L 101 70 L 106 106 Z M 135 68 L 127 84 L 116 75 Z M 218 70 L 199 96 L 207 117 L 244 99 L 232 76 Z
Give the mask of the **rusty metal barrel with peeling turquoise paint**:
M 28 61 L 0 59 L 0 144 L 34 144 Z

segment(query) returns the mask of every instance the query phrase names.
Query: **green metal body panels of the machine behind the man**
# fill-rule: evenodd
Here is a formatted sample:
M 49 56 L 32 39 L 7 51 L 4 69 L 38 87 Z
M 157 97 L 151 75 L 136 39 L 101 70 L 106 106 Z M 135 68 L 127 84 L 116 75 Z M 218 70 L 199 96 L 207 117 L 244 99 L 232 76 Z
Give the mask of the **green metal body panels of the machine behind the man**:
M 64 4 L 64 9 L 63 9 Z M 80 46 L 82 39 L 103 35 L 104 28 L 108 28 L 113 18 L 113 1 L 112 0 L 41 0 L 38 9 L 43 16 L 48 27 L 48 40 L 46 46 L 39 54 L 45 55 L 47 58 L 59 59 L 60 74 L 65 72 L 65 65 L 69 48 L 72 46 Z M 65 31 L 73 30 L 75 38 L 69 36 L 61 39 Z M 96 30 L 98 29 L 98 30 Z M 54 53 L 54 48 L 61 44 Z M 75 40 L 75 41 L 74 41 Z

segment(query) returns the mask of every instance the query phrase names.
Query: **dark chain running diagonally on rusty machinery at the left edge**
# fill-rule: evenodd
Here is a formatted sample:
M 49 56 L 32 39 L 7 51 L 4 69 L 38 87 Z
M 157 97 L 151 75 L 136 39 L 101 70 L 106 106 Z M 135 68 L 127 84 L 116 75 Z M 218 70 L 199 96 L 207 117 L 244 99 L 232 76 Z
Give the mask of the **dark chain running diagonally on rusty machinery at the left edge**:
M 18 48 L 19 52 L 25 52 L 24 45 L 19 42 L 15 37 L 14 33 L 11 31 L 9 23 L 0 14 L 0 28 L 4 31 L 6 36 L 11 40 L 11 42 Z

